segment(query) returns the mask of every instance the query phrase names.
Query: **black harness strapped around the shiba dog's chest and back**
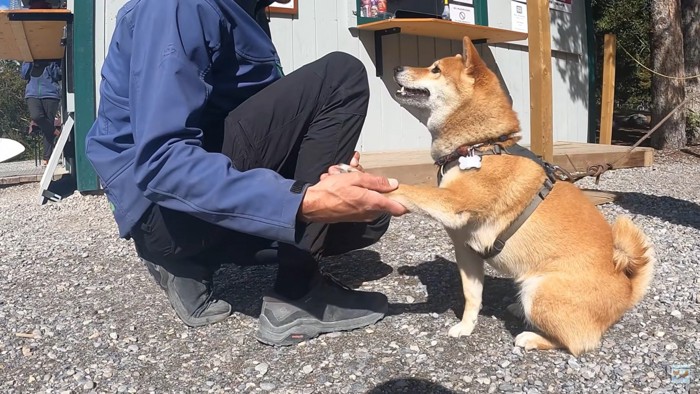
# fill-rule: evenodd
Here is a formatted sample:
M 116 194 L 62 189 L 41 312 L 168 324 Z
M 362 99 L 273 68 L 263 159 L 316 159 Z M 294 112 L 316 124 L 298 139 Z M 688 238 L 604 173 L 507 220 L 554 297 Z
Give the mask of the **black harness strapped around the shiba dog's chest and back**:
M 508 239 L 510 239 L 510 237 L 512 237 L 513 234 L 515 234 L 518 231 L 518 229 L 520 229 L 520 227 L 525 223 L 525 221 L 527 221 L 527 219 L 535 212 L 535 209 L 537 209 L 540 203 L 542 203 L 542 201 L 544 201 L 547 195 L 549 195 L 549 193 L 552 191 L 554 183 L 557 180 L 554 166 L 543 161 L 539 156 L 532 153 L 532 151 L 530 151 L 529 149 L 523 148 L 518 144 L 505 148 L 502 145 L 502 142 L 505 142 L 506 140 L 508 140 L 508 136 L 502 136 L 498 140 L 488 141 L 483 144 L 471 146 L 463 145 L 457 148 L 454 152 L 442 156 L 435 161 L 435 165 L 438 166 L 438 186 L 440 186 L 440 182 L 442 182 L 442 177 L 445 175 L 445 173 L 447 173 L 448 170 L 452 169 L 452 167 L 458 165 L 458 160 L 460 157 L 471 155 L 486 156 L 507 154 L 526 157 L 542 166 L 545 174 L 547 174 L 547 178 L 544 180 L 542 187 L 540 187 L 540 190 L 538 190 L 535 196 L 532 198 L 530 204 L 528 204 L 525 210 L 523 210 L 520 213 L 520 215 L 518 215 L 518 217 L 515 218 L 513 223 L 510 224 L 510 226 L 508 226 L 505 230 L 503 230 L 501 234 L 498 235 L 498 237 L 496 237 L 496 240 L 494 241 L 493 245 L 484 252 L 474 250 L 474 252 L 476 252 L 483 259 L 490 259 L 496 257 L 499 253 L 501 253 L 501 251 L 503 251 L 503 248 L 505 248 L 506 246 L 506 241 L 508 241 Z M 479 149 L 482 147 L 488 147 L 488 149 Z M 464 246 L 471 249 L 471 246 L 467 245 L 466 243 Z

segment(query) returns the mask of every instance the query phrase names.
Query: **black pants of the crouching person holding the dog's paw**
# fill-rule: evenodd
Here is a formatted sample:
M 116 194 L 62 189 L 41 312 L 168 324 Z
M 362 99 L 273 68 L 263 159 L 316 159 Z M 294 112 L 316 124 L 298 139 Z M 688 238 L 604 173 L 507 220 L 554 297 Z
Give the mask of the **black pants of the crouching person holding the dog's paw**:
M 368 101 L 362 63 L 347 54 L 329 54 L 233 110 L 225 121 L 221 151 L 240 171 L 269 168 L 288 179 L 316 183 L 329 166 L 349 163 Z M 373 223 L 312 223 L 292 245 L 154 206 L 132 237 L 139 254 L 159 264 L 249 264 L 273 250 L 279 262 L 275 287 L 293 296 L 306 289 L 322 256 L 369 246 L 388 226 L 388 215 Z

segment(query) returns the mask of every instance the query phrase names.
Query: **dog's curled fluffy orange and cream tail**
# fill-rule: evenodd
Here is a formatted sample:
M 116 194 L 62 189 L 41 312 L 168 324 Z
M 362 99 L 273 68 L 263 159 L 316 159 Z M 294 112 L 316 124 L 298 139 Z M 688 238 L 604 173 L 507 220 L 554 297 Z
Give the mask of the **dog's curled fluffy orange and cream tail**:
M 630 307 L 644 297 L 654 272 L 656 258 L 649 239 L 627 217 L 619 217 L 612 226 L 613 263 L 632 283 Z

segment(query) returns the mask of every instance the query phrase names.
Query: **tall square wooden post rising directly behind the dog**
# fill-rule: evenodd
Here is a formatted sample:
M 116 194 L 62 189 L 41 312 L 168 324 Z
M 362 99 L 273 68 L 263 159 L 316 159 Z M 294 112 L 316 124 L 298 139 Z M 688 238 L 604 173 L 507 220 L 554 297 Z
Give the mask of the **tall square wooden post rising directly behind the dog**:
M 549 1 L 527 0 L 530 58 L 530 149 L 546 161 L 553 159 L 552 36 Z

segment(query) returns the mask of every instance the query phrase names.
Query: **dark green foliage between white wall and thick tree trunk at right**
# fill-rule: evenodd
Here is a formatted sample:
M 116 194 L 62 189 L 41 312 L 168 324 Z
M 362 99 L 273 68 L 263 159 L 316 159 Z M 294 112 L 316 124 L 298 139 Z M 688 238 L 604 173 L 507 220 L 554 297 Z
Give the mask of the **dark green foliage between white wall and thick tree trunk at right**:
M 615 102 L 620 109 L 649 109 L 651 73 L 631 59 L 622 48 L 645 65 L 650 64 L 651 0 L 592 0 L 598 59 L 596 75 L 603 75 L 602 42 L 606 33 L 617 36 Z M 600 81 L 601 78 L 598 78 Z M 600 89 L 596 97 L 600 103 Z

